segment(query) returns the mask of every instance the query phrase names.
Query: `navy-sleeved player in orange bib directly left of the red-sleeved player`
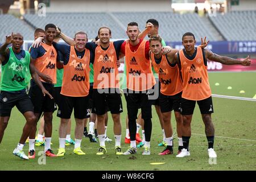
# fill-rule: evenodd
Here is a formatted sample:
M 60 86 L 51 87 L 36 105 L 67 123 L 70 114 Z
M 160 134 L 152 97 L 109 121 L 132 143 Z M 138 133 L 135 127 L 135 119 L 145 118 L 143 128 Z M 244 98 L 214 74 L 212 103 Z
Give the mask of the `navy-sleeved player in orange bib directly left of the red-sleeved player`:
M 94 58 L 94 83 L 93 83 L 93 110 L 97 114 L 97 133 L 100 148 L 97 155 L 106 153 L 105 147 L 105 116 L 106 105 L 112 114 L 114 121 L 115 154 L 122 155 L 121 150 L 121 121 L 122 100 L 119 91 L 119 78 L 117 60 L 123 40 L 110 42 L 112 32 L 108 27 L 100 27 L 98 38 L 100 46 L 95 43 L 87 43 L 86 47 L 95 53 Z

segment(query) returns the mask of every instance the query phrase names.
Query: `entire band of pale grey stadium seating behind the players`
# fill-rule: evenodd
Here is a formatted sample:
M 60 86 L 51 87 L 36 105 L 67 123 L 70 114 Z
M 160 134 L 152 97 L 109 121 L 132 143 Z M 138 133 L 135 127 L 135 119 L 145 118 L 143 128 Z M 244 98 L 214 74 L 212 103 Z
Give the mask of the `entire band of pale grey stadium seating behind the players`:
M 180 42 L 185 32 L 193 32 L 196 40 L 207 36 L 210 41 L 218 39 L 205 25 L 202 18 L 194 13 L 176 14 L 171 12 L 133 12 L 133 13 L 47 13 L 25 14 L 22 20 L 13 15 L 0 15 L 1 38 L 11 31 L 20 32 L 25 40 L 33 40 L 33 30 L 44 28 L 47 23 L 54 23 L 65 34 L 73 37 L 77 31 L 86 31 L 89 39 L 97 35 L 98 28 L 108 26 L 113 39 L 126 39 L 126 27 L 129 22 L 137 22 L 140 30 L 144 29 L 147 19 L 159 21 L 159 35 L 166 41 Z M 228 14 L 210 16 L 210 21 L 226 40 L 256 40 L 256 11 L 232 11 Z M 233 31 L 236 30 L 236 31 Z

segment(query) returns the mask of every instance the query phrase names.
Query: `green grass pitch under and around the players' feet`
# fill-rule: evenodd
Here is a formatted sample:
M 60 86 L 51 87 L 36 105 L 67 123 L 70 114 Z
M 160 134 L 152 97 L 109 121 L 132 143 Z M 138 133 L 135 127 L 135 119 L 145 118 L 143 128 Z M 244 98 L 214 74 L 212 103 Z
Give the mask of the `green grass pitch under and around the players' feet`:
M 256 72 L 242 73 L 209 73 L 212 93 L 228 96 L 253 98 L 256 94 Z M 216 86 L 218 82 L 220 85 Z M 232 86 L 232 89 L 227 89 Z M 244 90 L 245 93 L 240 93 Z M 125 118 L 127 115 L 124 97 L 121 114 L 122 121 L 122 150 L 125 151 L 128 144 L 124 143 Z M 44 147 L 36 147 L 36 158 L 22 160 L 15 157 L 12 152 L 19 142 L 24 118 L 16 107 L 11 113 L 9 125 L 5 131 L 0 144 L 0 171 L 4 170 L 110 170 L 110 171 L 134 171 L 134 170 L 255 170 L 256 158 L 256 102 L 233 102 L 227 100 L 213 100 L 214 113 L 213 122 L 216 129 L 214 150 L 217 152 L 216 164 L 209 164 L 207 152 L 207 138 L 204 135 L 204 125 L 198 108 L 194 111 L 192 119 L 192 137 L 189 142 L 191 156 L 176 158 L 177 136 L 174 139 L 174 155 L 159 156 L 163 147 L 158 147 L 162 140 L 162 131 L 154 107 L 152 108 L 152 137 L 151 155 L 143 156 L 142 149 L 134 156 L 117 156 L 114 154 L 113 121 L 109 113 L 108 136 L 113 139 L 112 143 L 106 143 L 107 154 L 97 156 L 98 143 L 90 143 L 88 138 L 82 139 L 82 150 L 84 156 L 73 154 L 73 146 L 66 146 L 67 155 L 58 158 L 46 158 L 46 164 L 38 156 Z M 237 111 L 236 111 L 237 110 Z M 241 113 L 240 113 L 241 112 Z M 59 147 L 58 128 L 60 119 L 53 114 L 52 149 L 57 153 Z M 72 121 L 74 119 L 72 118 Z M 71 137 L 74 138 L 74 125 L 72 122 Z M 172 118 L 172 126 L 175 127 Z M 237 139 L 234 139 L 237 138 Z M 24 146 L 28 151 L 28 144 Z M 162 165 L 151 165 L 150 163 L 163 162 Z

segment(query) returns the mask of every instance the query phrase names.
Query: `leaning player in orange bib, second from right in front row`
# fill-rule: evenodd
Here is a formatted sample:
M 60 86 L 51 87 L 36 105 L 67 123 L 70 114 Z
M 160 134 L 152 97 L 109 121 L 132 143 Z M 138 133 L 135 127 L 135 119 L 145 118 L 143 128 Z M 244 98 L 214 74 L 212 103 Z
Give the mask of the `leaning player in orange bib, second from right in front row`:
M 179 67 L 177 64 L 172 64 L 174 55 L 178 52 L 178 49 L 172 49 L 165 56 L 162 54 L 162 38 L 160 36 L 151 36 L 150 40 L 151 48 L 151 61 L 154 66 L 154 70 L 159 75 L 159 81 L 161 83 L 160 89 L 160 109 L 163 116 L 163 128 L 166 135 L 167 146 L 163 152 L 159 155 L 173 154 L 172 144 L 172 125 L 171 125 L 171 111 L 174 110 L 177 126 L 179 129 L 182 127 L 182 116 L 180 114 L 180 99 L 182 93 L 182 80 L 179 73 Z M 178 137 L 181 137 L 181 133 L 178 131 Z M 178 153 L 181 151 L 182 145 L 178 148 Z

